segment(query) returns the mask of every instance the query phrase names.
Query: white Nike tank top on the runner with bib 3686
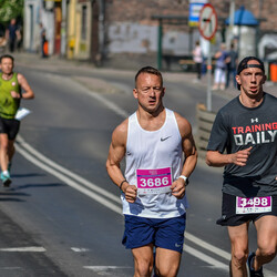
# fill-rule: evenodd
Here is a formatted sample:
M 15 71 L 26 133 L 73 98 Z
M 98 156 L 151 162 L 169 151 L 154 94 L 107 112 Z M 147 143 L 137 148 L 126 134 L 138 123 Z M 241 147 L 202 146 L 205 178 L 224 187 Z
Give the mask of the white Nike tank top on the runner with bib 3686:
M 166 119 L 157 131 L 141 127 L 136 113 L 129 117 L 125 154 L 125 177 L 137 186 L 136 170 L 171 168 L 172 182 L 178 178 L 183 168 L 182 137 L 174 112 L 165 109 Z M 135 203 L 126 202 L 121 195 L 123 214 L 150 218 L 177 217 L 185 213 L 186 197 L 177 199 L 171 192 L 138 194 Z

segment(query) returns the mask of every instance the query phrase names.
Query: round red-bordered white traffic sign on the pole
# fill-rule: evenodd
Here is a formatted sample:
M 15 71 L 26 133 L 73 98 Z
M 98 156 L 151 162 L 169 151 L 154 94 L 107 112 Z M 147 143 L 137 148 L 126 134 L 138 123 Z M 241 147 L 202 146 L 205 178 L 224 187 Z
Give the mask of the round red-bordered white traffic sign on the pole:
M 217 16 L 212 4 L 206 3 L 201 10 L 198 29 L 201 35 L 212 40 L 217 29 Z

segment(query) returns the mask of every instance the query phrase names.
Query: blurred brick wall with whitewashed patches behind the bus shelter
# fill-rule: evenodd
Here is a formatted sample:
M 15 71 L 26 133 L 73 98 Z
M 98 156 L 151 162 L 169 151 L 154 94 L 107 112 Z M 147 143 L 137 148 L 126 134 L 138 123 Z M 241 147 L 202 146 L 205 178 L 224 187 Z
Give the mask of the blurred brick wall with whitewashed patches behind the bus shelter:
M 211 0 L 218 16 L 216 44 L 212 45 L 212 52 L 218 48 L 225 34 L 225 19 L 229 16 L 230 0 Z M 121 62 L 129 65 L 130 62 L 156 61 L 157 51 L 157 25 L 158 21 L 153 16 L 183 16 L 188 18 L 188 0 L 106 0 L 105 1 L 105 27 L 106 41 L 105 53 L 109 61 L 114 59 L 127 59 Z M 264 19 L 260 23 L 260 58 L 265 52 L 276 51 L 275 33 L 277 37 L 277 1 L 276 0 L 235 0 L 235 10 L 244 6 L 255 18 Z M 187 23 L 175 21 L 176 24 L 163 25 L 163 54 L 174 57 L 191 54 L 195 41 L 199 39 L 197 28 L 189 28 Z M 255 31 L 254 31 L 255 32 Z M 273 32 L 269 38 L 265 33 Z M 244 33 L 242 33 L 244 35 Z M 249 32 L 247 33 L 249 37 Z M 253 40 L 255 34 L 252 35 Z M 242 40 L 243 41 L 243 40 Z M 252 41 L 252 51 L 255 50 L 256 41 Z M 270 44 L 271 49 L 266 49 Z M 240 45 L 242 47 L 242 45 Z M 252 52 L 250 52 L 252 53 Z M 254 54 L 254 53 L 252 53 Z M 164 62 L 164 61 L 163 61 Z M 164 66 L 164 65 L 163 65 Z M 177 64 L 178 66 L 178 64 Z

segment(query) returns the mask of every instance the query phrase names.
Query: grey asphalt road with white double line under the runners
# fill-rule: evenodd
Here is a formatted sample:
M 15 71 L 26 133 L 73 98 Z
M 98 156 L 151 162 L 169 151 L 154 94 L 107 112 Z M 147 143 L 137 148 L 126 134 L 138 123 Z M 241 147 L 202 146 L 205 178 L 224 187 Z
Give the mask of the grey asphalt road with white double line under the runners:
M 17 68 L 35 100 L 22 103 L 32 113 L 22 120 L 13 184 L 0 191 L 0 276 L 132 276 L 132 255 L 121 245 L 119 189 L 107 177 L 105 160 L 112 130 L 136 107 L 133 72 L 35 65 Z M 203 88 L 167 74 L 165 86 L 166 106 L 195 126 Z M 213 101 L 216 110 L 227 98 L 214 95 Z M 220 185 L 222 170 L 199 161 L 187 188 L 179 276 L 228 276 L 227 233 L 215 224 Z M 266 269 L 266 276 L 276 276 L 276 260 Z

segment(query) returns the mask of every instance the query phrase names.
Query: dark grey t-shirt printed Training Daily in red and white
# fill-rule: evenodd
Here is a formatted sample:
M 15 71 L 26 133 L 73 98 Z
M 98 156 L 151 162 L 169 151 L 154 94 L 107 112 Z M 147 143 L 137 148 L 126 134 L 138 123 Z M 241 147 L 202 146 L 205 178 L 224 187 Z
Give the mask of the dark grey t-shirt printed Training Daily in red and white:
M 230 154 L 249 146 L 245 166 L 225 166 L 223 192 L 240 197 L 277 195 L 277 99 L 270 94 L 253 109 L 237 96 L 216 115 L 208 151 Z

